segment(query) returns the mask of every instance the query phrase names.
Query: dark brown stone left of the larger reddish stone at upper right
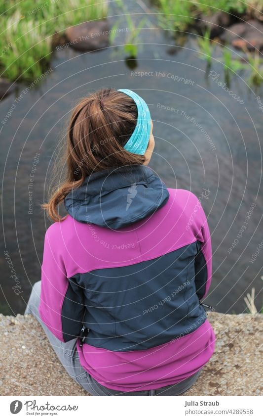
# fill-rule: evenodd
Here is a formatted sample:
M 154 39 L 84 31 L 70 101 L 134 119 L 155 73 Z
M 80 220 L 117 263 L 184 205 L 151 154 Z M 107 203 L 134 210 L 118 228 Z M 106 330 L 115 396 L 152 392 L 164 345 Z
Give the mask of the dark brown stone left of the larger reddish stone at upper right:
M 231 15 L 218 11 L 209 16 L 201 14 L 198 27 L 202 32 L 204 32 L 205 29 L 210 29 L 210 38 L 215 38 L 222 34 L 225 27 L 229 26 L 231 23 Z

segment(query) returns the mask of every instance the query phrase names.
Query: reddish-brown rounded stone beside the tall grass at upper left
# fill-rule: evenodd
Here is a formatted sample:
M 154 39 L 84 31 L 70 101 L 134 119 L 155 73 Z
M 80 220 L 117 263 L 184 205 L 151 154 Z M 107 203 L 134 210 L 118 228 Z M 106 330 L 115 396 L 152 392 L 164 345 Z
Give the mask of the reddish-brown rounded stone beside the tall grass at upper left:
M 92 51 L 109 46 L 110 28 L 106 19 L 70 26 L 65 32 L 70 47 Z

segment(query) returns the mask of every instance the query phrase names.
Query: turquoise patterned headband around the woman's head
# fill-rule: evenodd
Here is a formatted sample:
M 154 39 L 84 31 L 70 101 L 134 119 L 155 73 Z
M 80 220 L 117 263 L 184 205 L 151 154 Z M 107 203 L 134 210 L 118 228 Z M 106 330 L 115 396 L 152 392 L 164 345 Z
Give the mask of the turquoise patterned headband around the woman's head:
M 129 89 L 118 89 L 119 92 L 126 93 L 136 103 L 138 110 L 137 124 L 131 137 L 124 146 L 128 152 L 135 154 L 145 154 L 150 139 L 150 110 L 144 99 L 137 93 Z

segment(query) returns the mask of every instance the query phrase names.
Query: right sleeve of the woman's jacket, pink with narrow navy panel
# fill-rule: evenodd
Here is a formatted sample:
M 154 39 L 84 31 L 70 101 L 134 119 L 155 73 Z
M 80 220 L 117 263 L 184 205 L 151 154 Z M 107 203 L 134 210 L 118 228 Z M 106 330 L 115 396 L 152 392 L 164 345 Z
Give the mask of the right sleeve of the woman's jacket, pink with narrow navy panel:
M 204 299 L 208 293 L 212 280 L 212 245 L 211 236 L 205 212 L 197 197 L 197 209 L 194 220 L 194 233 L 197 239 L 197 255 L 195 257 L 195 288 L 199 300 Z

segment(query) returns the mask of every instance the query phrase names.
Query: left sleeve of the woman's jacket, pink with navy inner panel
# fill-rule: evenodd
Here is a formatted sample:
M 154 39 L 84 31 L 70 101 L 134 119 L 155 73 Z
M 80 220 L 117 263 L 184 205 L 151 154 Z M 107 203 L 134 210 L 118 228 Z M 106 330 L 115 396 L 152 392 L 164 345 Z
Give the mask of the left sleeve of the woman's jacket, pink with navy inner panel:
M 67 278 L 63 238 L 59 239 L 61 232 L 56 229 L 56 224 L 51 225 L 45 234 L 39 314 L 50 331 L 66 342 L 80 334 L 85 307 L 82 289 Z

